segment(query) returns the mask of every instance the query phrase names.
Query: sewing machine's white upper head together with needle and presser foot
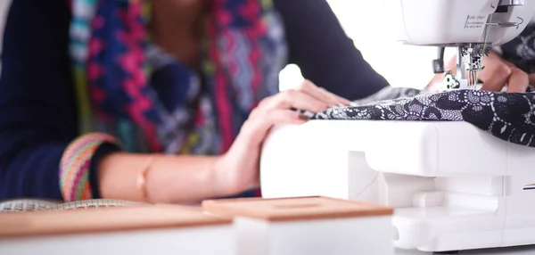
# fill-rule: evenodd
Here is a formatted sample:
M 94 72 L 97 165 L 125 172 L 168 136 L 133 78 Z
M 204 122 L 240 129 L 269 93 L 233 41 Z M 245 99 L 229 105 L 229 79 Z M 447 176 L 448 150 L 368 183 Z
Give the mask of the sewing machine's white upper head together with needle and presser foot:
M 533 17 L 532 1 L 525 0 L 387 0 L 395 37 L 407 45 L 438 46 L 432 62 L 444 72 L 445 47 L 457 47 L 457 75 L 444 89 L 475 88 L 482 56 L 492 46 L 518 37 Z M 465 70 L 465 71 L 461 71 Z M 467 75 L 467 77 L 466 77 Z M 450 77 L 446 77 L 450 78 Z

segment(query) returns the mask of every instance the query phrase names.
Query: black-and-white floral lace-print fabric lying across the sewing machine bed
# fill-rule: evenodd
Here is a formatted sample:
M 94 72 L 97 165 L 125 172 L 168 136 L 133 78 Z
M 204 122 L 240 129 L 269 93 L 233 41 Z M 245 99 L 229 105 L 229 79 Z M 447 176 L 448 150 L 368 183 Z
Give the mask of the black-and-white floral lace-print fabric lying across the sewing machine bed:
M 403 90 L 407 92 L 405 88 L 391 88 L 391 93 L 384 95 L 403 95 Z M 535 93 L 423 92 L 416 96 L 335 107 L 313 114 L 312 119 L 466 121 L 499 139 L 535 147 Z

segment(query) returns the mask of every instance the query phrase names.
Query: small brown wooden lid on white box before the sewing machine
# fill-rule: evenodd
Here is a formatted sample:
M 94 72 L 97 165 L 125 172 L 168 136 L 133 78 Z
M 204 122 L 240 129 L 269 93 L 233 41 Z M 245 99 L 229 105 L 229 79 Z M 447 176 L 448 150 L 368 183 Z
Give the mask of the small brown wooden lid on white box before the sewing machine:
M 393 213 L 393 209 L 373 203 L 327 197 L 213 200 L 202 202 L 202 208 L 229 217 L 242 216 L 268 221 L 376 217 Z

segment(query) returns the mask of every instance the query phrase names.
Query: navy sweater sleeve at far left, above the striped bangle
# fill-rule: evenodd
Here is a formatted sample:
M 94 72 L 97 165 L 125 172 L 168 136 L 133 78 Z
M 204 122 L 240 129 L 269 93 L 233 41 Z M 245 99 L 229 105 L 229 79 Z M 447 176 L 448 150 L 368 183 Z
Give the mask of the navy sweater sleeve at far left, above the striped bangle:
M 0 78 L 0 199 L 62 200 L 59 164 L 77 136 L 67 1 L 16 0 Z

